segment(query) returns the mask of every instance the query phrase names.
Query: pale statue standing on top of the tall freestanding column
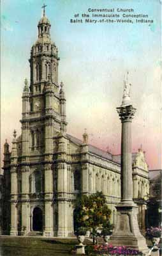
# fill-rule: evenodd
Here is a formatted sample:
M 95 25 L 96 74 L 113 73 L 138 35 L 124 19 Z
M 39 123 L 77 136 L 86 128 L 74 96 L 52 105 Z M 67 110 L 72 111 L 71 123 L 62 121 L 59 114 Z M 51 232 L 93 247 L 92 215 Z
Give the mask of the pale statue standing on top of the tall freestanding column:
M 124 90 L 122 94 L 121 107 L 131 105 L 131 98 L 130 98 L 131 84 L 128 83 L 128 74 L 129 72 L 127 71 L 124 76 Z

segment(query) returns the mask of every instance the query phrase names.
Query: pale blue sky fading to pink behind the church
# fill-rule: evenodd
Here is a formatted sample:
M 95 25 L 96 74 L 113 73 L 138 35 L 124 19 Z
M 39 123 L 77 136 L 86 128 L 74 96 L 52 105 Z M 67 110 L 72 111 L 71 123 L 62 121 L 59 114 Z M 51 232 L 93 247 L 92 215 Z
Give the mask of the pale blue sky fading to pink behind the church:
M 151 168 L 161 168 L 161 1 L 160 0 L 5 0 L 1 3 L 2 143 L 20 133 L 22 88 L 29 79 L 29 54 L 36 41 L 41 6 L 47 4 L 51 37 L 59 49 L 59 82 L 67 97 L 68 132 L 101 148 L 120 150 L 119 118 L 123 77 L 133 84 L 133 151 L 142 143 Z M 88 8 L 133 8 L 149 24 L 71 24 Z

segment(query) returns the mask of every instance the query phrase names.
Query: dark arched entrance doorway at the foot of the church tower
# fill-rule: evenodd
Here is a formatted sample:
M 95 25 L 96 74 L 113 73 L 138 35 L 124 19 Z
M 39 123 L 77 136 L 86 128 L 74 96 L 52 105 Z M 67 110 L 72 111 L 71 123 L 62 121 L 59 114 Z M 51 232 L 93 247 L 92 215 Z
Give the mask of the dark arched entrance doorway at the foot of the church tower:
M 43 214 L 39 207 L 33 210 L 33 230 L 41 231 L 43 229 Z

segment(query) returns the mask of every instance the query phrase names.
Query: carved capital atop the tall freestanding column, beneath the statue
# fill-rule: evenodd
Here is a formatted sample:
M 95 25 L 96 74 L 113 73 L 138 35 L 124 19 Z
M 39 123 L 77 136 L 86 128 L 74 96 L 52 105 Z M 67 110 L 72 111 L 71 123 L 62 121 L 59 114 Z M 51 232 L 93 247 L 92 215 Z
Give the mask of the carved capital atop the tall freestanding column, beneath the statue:
M 121 122 L 131 122 L 136 113 L 136 108 L 132 105 L 117 108 L 117 113 L 121 119 Z

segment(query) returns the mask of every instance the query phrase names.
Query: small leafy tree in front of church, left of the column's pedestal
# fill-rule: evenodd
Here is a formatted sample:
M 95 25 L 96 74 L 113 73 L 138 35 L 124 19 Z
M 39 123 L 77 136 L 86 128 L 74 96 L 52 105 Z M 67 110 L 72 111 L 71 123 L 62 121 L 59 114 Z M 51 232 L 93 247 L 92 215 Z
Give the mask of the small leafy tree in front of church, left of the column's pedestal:
M 103 193 L 78 196 L 75 204 L 75 233 L 77 234 L 80 228 L 90 230 L 95 243 L 98 230 L 112 229 L 110 215 L 111 210 L 108 209 Z

